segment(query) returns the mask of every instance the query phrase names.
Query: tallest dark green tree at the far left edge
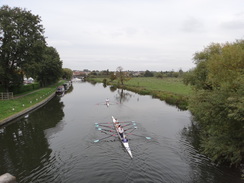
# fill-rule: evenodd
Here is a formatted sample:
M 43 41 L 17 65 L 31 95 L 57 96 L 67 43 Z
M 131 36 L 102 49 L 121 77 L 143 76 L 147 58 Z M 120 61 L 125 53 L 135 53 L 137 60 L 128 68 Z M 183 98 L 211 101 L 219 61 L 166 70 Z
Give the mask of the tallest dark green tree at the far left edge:
M 45 38 L 40 22 L 38 15 L 25 9 L 0 8 L 0 82 L 6 91 L 22 84 L 23 75 L 35 71 L 30 66 L 41 60 Z

